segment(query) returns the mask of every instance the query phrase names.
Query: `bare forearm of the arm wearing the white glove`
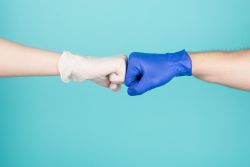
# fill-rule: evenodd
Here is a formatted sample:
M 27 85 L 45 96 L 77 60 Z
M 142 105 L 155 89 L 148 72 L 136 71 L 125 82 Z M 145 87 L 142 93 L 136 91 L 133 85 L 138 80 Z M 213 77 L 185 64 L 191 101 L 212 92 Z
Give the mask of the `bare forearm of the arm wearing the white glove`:
M 0 76 L 59 75 L 60 54 L 0 39 Z

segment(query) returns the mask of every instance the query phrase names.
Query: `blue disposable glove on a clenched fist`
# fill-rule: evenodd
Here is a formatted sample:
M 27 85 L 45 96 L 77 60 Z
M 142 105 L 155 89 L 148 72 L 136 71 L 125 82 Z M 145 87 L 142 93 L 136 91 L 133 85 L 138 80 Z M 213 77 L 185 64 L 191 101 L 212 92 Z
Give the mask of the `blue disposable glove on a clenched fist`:
M 177 76 L 192 75 L 192 60 L 185 50 L 151 54 L 133 52 L 129 56 L 125 84 L 130 96 L 141 95 Z

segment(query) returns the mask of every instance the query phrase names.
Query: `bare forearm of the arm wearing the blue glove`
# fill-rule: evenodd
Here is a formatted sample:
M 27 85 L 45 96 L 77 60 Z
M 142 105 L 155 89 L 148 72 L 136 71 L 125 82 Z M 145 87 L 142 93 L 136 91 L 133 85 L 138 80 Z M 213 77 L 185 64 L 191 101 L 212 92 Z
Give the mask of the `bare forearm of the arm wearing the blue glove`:
M 250 90 L 250 50 L 189 54 L 195 77 L 208 82 Z

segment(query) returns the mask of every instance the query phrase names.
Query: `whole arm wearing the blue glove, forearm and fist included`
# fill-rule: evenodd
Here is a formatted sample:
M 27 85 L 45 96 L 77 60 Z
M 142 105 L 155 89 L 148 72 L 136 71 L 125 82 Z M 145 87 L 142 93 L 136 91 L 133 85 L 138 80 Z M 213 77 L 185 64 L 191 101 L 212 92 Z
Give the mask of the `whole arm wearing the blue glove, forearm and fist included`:
M 129 95 L 140 95 L 178 76 L 250 90 L 250 50 L 237 52 L 152 54 L 134 52 L 128 60 L 125 84 Z

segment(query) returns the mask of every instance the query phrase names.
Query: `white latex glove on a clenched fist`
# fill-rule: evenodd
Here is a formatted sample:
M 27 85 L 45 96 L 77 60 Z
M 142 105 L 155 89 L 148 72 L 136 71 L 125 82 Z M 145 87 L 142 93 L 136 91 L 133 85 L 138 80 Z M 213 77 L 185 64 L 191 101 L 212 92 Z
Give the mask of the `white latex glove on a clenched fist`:
M 125 80 L 127 57 L 93 57 L 63 52 L 59 72 L 63 82 L 91 80 L 101 86 L 118 91 Z

